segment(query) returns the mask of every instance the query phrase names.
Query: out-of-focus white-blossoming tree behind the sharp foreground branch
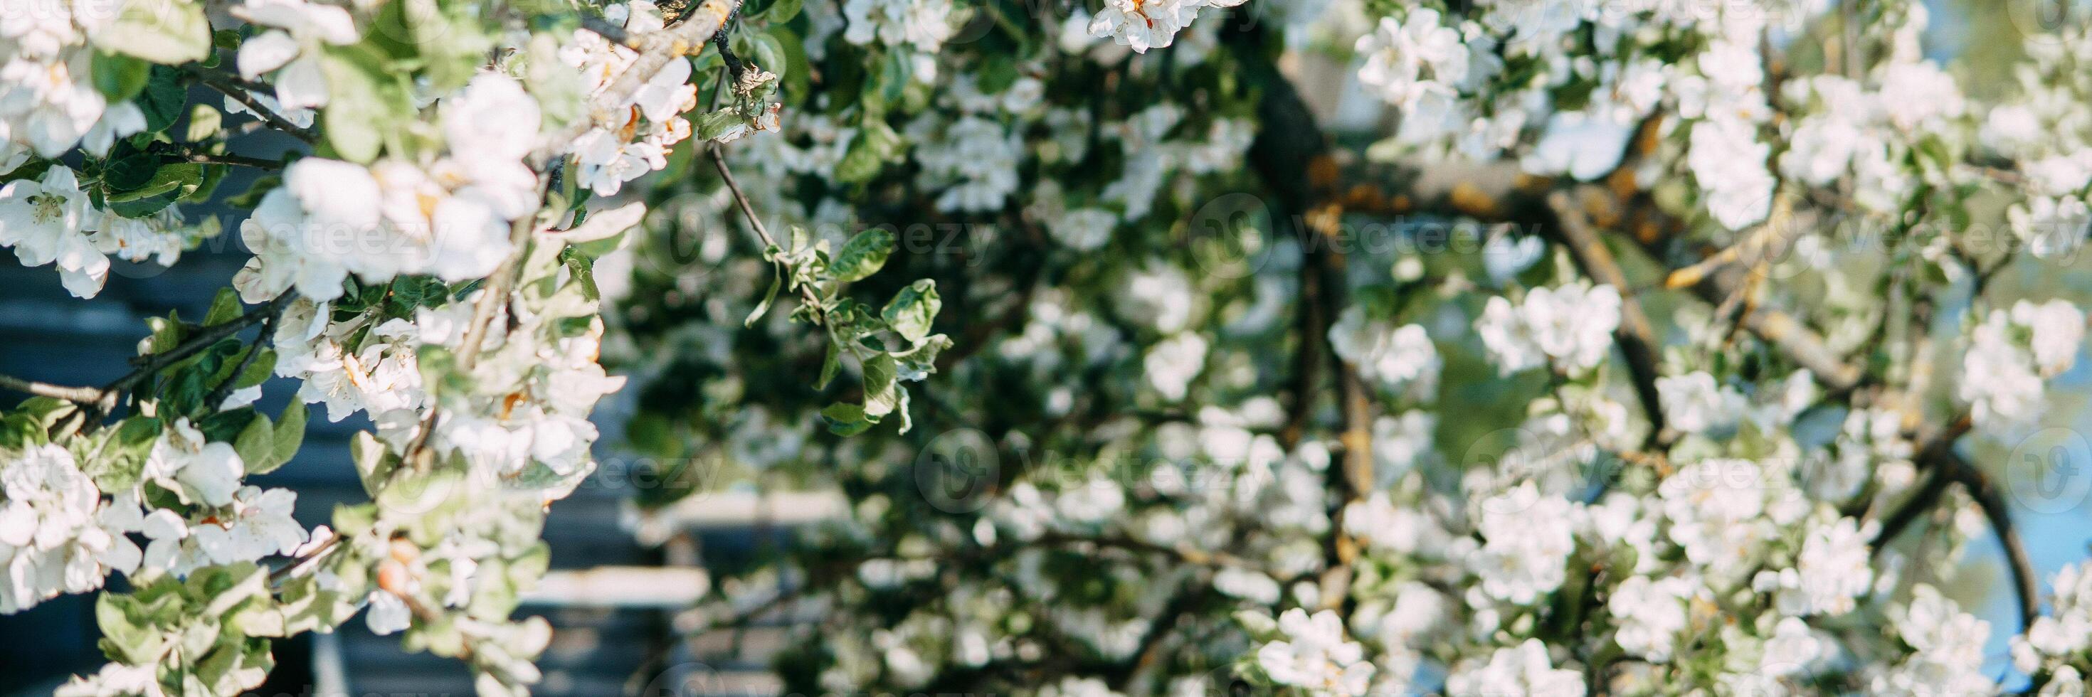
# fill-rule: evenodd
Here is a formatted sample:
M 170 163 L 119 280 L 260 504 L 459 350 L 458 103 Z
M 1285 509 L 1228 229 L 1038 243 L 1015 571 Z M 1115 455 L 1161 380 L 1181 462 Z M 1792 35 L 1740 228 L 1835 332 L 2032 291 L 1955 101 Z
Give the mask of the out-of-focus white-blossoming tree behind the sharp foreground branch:
M 772 444 L 747 429 L 814 404 L 749 389 L 743 373 L 774 356 L 734 345 L 824 345 L 784 324 L 743 335 L 686 322 L 623 356 L 663 370 L 659 389 L 697 381 L 688 414 L 730 414 L 634 421 L 699 442 L 667 437 L 665 452 L 720 448 L 757 471 L 835 477 L 851 498 L 803 550 L 692 613 L 745 620 L 789 601 L 774 584 L 805 584 L 824 630 L 789 651 L 791 666 L 814 666 L 784 676 L 791 689 L 1998 689 L 1969 651 L 1994 626 L 1956 576 L 1987 511 L 1956 486 L 1920 486 L 1948 477 L 1927 437 L 1962 408 L 1969 437 L 2008 433 L 2000 408 L 2038 419 L 2025 404 L 2073 364 L 2084 318 L 2069 299 L 1992 310 L 1979 297 L 1966 341 L 1893 318 L 1918 301 L 1960 312 L 1971 278 L 1996 289 L 1983 280 L 2004 260 L 1956 216 L 1985 216 L 1975 190 L 2023 176 L 1992 155 L 2023 163 L 2048 149 L 1979 136 L 1996 128 L 1925 50 L 1925 6 L 1870 4 L 1868 27 L 1828 38 L 1820 2 L 1247 4 L 1234 13 L 1270 21 L 1255 46 L 1255 31 L 1209 21 L 1211 4 L 1071 10 L 1044 42 L 960 13 L 937 23 L 927 2 L 856 6 L 843 21 L 803 10 L 826 44 L 812 61 L 897 50 L 906 63 L 887 65 L 906 69 L 889 71 L 910 84 L 868 98 L 856 84 L 816 86 L 822 113 L 749 144 L 764 159 L 753 197 L 808 226 L 962 226 L 964 245 L 910 260 L 964 278 L 954 293 L 990 318 L 952 387 L 929 385 L 962 408 L 923 421 L 941 425 L 929 444 L 803 429 Z M 860 29 L 879 10 L 877 31 Z M 1130 10 L 1146 19 L 1128 23 Z M 908 38 L 962 19 L 935 57 Z M 818 40 L 828 25 L 858 38 Z M 1151 50 L 1159 36 L 1167 52 Z M 1822 44 L 1847 65 L 1818 65 Z M 1299 59 L 1259 63 L 1278 46 Z M 2071 61 L 2036 57 L 2042 73 L 2025 82 L 2075 80 L 2061 75 Z M 1335 157 L 1266 170 L 1299 155 L 1284 149 L 1305 128 L 1268 109 L 1280 90 L 1259 69 L 1316 94 L 1303 111 L 1337 132 Z M 1356 100 L 1354 75 L 1372 105 Z M 1318 82 L 1347 88 L 1322 94 Z M 912 92 L 920 84 L 939 88 Z M 877 109 L 835 103 L 851 98 Z M 2023 109 L 2040 115 L 2002 126 L 2027 134 L 2025 121 L 2079 111 L 2059 96 Z M 1374 170 L 1429 178 L 1466 172 L 1462 159 L 1508 163 L 1515 184 L 1460 182 L 1439 205 Z M 2038 176 L 2075 182 L 2048 167 Z M 1289 201 L 1299 182 L 1284 176 L 1320 199 Z M 690 211 L 732 203 L 692 188 L 678 203 Z M 1243 188 L 1270 195 L 1236 205 L 1228 193 Z M 1586 205 L 1548 207 L 1536 188 Z M 1510 260 L 1310 239 L 1416 209 L 1490 222 L 1582 211 L 1628 283 L 1582 272 L 1590 262 L 1550 237 L 1554 218 L 1513 239 Z M 1837 218 L 1897 237 L 1818 226 Z M 1770 270 L 1782 260 L 1747 253 L 1766 241 L 1807 251 L 1805 264 Z M 1877 249 L 1862 243 L 1893 255 L 1856 253 Z M 1335 249 L 1314 257 L 1312 245 Z M 1305 276 L 1328 255 L 1343 260 L 1343 303 L 1314 306 Z M 1692 262 L 1722 276 L 1665 278 Z M 636 291 L 626 308 L 718 318 L 757 303 L 715 278 L 642 268 L 640 289 L 678 297 Z M 1646 366 L 1615 350 L 1644 312 L 1634 306 L 1655 324 Z M 1820 345 L 1797 354 L 1797 337 Z M 659 350 L 699 358 L 642 358 Z M 1981 362 L 1964 375 L 2017 373 L 1933 375 L 1935 358 Z M 2048 680 L 2079 657 L 2054 645 L 2023 664 Z

